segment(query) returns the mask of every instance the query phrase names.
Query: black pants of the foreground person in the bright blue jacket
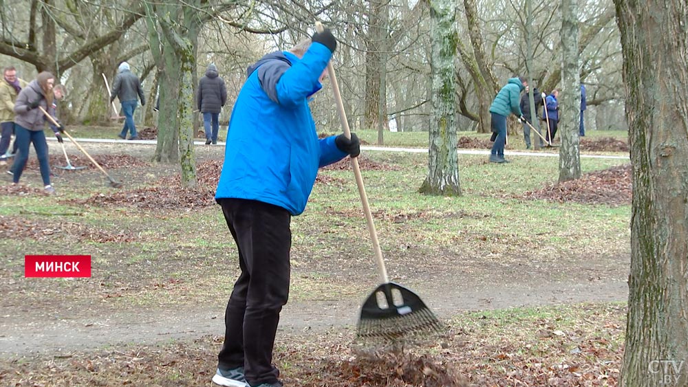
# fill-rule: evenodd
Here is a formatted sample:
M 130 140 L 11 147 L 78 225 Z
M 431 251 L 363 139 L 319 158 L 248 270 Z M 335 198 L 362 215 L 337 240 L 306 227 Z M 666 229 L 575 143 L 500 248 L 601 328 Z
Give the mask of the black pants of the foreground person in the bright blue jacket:
M 241 275 L 227 303 L 218 367 L 244 367 L 246 380 L 275 384 L 272 349 L 279 312 L 289 296 L 291 215 L 260 201 L 219 199 L 239 249 Z

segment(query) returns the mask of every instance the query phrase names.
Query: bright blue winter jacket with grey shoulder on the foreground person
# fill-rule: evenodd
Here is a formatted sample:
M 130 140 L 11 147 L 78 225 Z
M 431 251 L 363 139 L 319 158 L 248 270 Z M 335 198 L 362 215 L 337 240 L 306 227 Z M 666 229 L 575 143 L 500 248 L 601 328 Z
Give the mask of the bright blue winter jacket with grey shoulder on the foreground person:
M 248 67 L 229 122 L 216 200 L 250 199 L 303 212 L 318 168 L 347 155 L 335 136 L 318 139 L 308 107 L 331 56 L 313 43 L 301 59 L 274 52 Z

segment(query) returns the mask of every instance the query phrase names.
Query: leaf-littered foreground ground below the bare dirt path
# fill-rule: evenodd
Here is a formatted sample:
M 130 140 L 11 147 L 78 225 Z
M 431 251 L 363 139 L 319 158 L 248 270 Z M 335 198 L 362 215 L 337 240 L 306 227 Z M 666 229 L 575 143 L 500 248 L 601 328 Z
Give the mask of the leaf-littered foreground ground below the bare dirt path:
M 372 346 L 348 329 L 286 333 L 275 364 L 288 387 L 616 386 L 619 305 L 464 313 L 442 335 Z M 210 386 L 222 338 L 19 357 L 0 363 L 3 386 Z

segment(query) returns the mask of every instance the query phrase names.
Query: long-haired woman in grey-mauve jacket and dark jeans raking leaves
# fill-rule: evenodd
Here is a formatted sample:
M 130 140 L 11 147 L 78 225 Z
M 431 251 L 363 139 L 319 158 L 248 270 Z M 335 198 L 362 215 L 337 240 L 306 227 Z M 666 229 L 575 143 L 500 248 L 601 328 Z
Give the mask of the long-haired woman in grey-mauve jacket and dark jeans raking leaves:
M 47 142 L 45 141 L 45 133 L 43 133 L 45 115 L 39 107 L 48 112 L 53 111 L 52 88 L 54 84 L 55 77 L 49 72 L 43 71 L 27 87 L 21 89 L 19 96 L 17 96 L 17 102 L 14 103 L 14 130 L 17 135 L 14 141 L 17 142 L 17 159 L 14 160 L 10 170 L 12 184 L 19 183 L 19 178 L 29 158 L 29 145 L 33 143 L 47 194 L 54 194 L 55 189 L 50 185 L 50 164 L 48 164 Z M 58 132 L 55 134 L 59 142 L 62 142 L 61 129 L 62 126 L 59 126 Z

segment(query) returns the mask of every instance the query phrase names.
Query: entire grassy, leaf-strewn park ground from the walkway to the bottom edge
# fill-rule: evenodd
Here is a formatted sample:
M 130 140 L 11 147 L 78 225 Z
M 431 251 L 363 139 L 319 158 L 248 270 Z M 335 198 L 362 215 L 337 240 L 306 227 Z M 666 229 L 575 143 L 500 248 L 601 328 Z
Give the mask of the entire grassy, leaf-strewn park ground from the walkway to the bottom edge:
M 89 144 L 91 148 L 96 146 Z M 198 186 L 193 189 L 182 188 L 176 166 L 148 163 L 138 155 L 142 148 L 126 149 L 130 155 L 119 154 L 121 149 L 112 154 L 94 152 L 98 162 L 125 182 L 122 190 L 103 188 L 98 184 L 103 175 L 92 166 L 60 175 L 56 197 L 44 197 L 36 188 L 37 166 L 22 177 L 20 186 L 0 184 L 0 196 L 8 194 L 3 204 L 12 209 L 0 215 L 0 247 L 11 250 L 14 257 L 0 269 L 0 305 L 5 311 L 0 324 L 40 339 L 42 329 L 55 321 L 94 331 L 96 327 L 88 324 L 96 321 L 111 324 L 104 335 L 119 340 L 83 349 L 91 346 L 83 342 L 80 347 L 76 340 L 87 340 L 87 334 L 74 335 L 76 349 L 36 355 L 30 348 L 21 355 L 3 355 L 0 386 L 211 385 L 222 338 L 196 333 L 196 327 L 177 326 L 170 315 L 180 310 L 197 313 L 194 307 L 207 305 L 217 307 L 221 320 L 224 309 L 215 304 L 226 297 L 236 274 L 228 263 L 234 262 L 230 258 L 235 253 L 221 216 L 209 208 L 222 168 L 221 149 L 200 148 Z M 299 318 L 322 317 L 334 328 L 296 329 L 287 324 L 295 311 L 285 314 L 281 324 L 286 331 L 279 333 L 275 362 L 287 387 L 616 385 L 623 306 L 599 302 L 465 310 L 498 308 L 500 297 L 507 306 L 523 305 L 524 298 L 542 305 L 562 303 L 578 292 L 584 298 L 588 285 L 601 289 L 619 281 L 623 285 L 628 243 L 619 235 L 625 235 L 627 215 L 608 214 L 607 204 L 587 215 L 581 214 L 588 211 L 581 209 L 585 206 L 577 211 L 568 211 L 567 206 L 612 203 L 603 199 L 618 197 L 619 190 L 630 187 L 627 168 L 608 168 L 614 164 L 606 161 L 594 168 L 586 164 L 588 170 L 598 170 L 585 174 L 579 186 L 553 188 L 542 177 L 553 175 L 556 166 L 551 159 L 517 159 L 504 168 L 486 163 L 485 157 L 466 157 L 462 178 L 468 193 L 455 199 L 417 195 L 413 184 L 427 173 L 427 157 L 376 154 L 359 162 L 374 200 L 372 210 L 391 274 L 420 288 L 423 298 L 433 300 L 445 316 L 455 317 L 443 321 L 448 327 L 445 335 L 407 344 L 403 351 L 369 349 L 354 341 L 352 327 L 342 322 L 342 309 L 332 309 L 328 302 L 347 301 L 345 313 L 354 311 L 361 288 L 376 280 L 376 272 L 364 241 L 365 220 L 350 163 L 334 164 L 321 173 L 310 210 L 294 221 L 288 305 L 299 300 L 301 307 L 310 306 L 313 315 L 321 315 L 304 313 Z M 88 163 L 77 157 L 72 161 Z M 533 164 L 537 173 L 526 175 Z M 495 187 L 505 193 L 496 200 Z M 524 206 L 523 199 L 547 199 L 557 205 L 528 201 Z M 511 206 L 503 206 L 502 201 Z M 518 212 L 520 207 L 528 211 Z M 537 212 L 531 214 L 533 208 Z M 502 212 L 499 217 L 493 214 L 495 209 Z M 579 216 L 589 221 L 581 222 Z M 585 226 L 568 228 L 566 221 Z M 539 228 L 547 232 L 534 230 Z M 18 274 L 19 252 L 78 249 L 97 258 L 94 278 L 30 281 Z M 574 287 L 566 287 L 569 283 Z M 613 299 L 619 300 L 619 294 L 623 291 Z M 612 299 L 609 294 L 590 298 Z M 447 305 L 455 309 L 447 310 Z M 127 339 L 129 320 L 146 311 L 174 326 L 150 333 L 142 343 Z M 120 326 L 125 333 L 115 329 Z M 190 333 L 178 341 L 165 341 L 164 332 L 172 330 Z M 12 341 L 8 332 L 17 331 L 0 332 L 0 343 Z M 129 344 L 120 344 L 122 340 Z

